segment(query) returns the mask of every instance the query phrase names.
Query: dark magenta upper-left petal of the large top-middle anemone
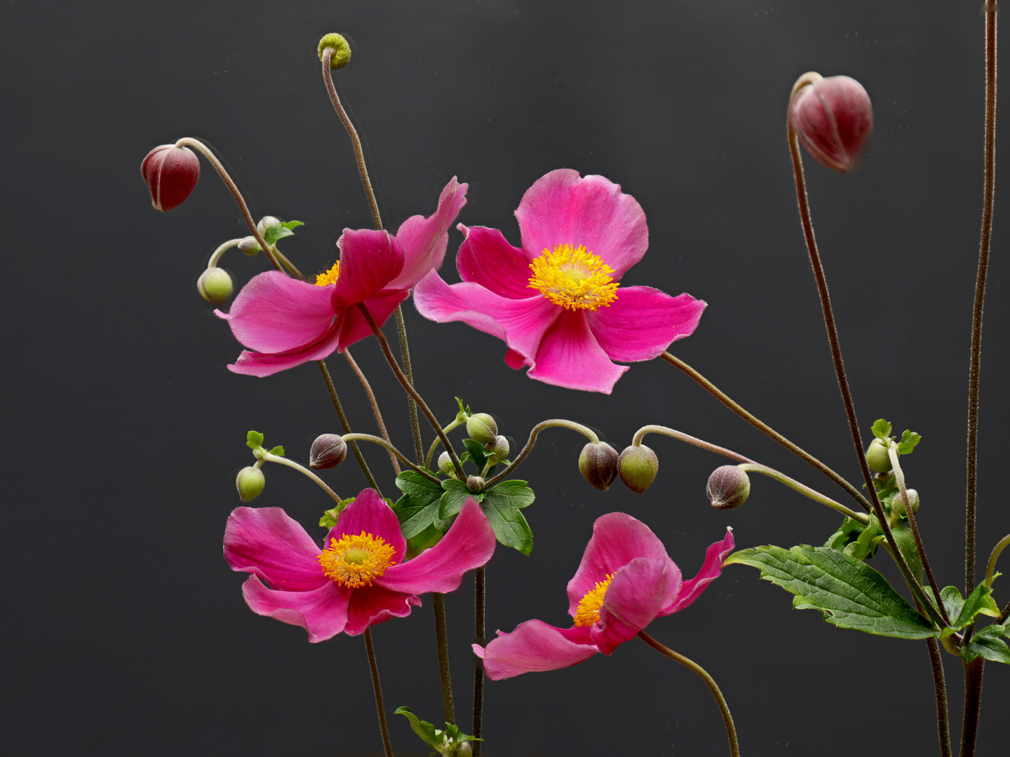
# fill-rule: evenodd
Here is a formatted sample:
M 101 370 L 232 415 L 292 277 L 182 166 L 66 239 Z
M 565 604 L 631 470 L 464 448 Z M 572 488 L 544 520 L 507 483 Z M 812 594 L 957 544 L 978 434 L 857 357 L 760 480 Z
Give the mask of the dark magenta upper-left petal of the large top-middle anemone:
M 529 255 L 505 241 L 502 232 L 462 223 L 457 228 L 466 235 L 456 255 L 463 281 L 511 300 L 526 300 L 536 292 L 529 288 Z

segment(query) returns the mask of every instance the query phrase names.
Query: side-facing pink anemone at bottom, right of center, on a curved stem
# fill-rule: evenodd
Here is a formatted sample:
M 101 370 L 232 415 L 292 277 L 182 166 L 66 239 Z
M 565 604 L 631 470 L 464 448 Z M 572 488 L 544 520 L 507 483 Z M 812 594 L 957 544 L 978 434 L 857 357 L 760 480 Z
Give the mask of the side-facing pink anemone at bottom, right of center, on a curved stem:
M 645 524 L 610 513 L 593 524 L 579 570 L 569 581 L 572 628 L 526 621 L 510 634 L 498 632 L 487 648 L 474 645 L 492 680 L 520 673 L 556 670 L 584 662 L 597 652 L 609 655 L 653 619 L 684 610 L 719 573 L 733 550 L 731 529 L 712 544 L 698 575 L 681 580 L 663 542 Z

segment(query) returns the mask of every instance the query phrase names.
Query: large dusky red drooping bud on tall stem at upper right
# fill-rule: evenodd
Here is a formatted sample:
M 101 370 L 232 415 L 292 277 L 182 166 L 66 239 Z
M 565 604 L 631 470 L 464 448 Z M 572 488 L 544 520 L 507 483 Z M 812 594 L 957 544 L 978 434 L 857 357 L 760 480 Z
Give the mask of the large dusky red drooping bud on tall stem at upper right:
M 789 119 L 800 143 L 821 166 L 845 173 L 874 130 L 874 111 L 863 85 L 828 77 L 796 93 Z

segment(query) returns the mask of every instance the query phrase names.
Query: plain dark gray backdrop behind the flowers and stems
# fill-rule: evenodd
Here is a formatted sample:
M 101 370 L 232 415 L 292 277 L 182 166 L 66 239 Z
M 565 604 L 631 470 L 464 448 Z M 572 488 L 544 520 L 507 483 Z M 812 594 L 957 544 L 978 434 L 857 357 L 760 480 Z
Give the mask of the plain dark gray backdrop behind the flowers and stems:
M 195 282 L 221 241 L 245 233 L 209 167 L 171 214 L 138 176 L 153 146 L 206 139 L 254 213 L 305 221 L 284 244 L 303 271 L 332 263 L 340 230 L 369 227 L 352 154 L 326 99 L 315 44 L 355 45 L 338 76 L 368 142 L 384 218 L 430 213 L 453 175 L 461 220 L 503 229 L 545 172 L 622 185 L 648 216 L 650 249 L 625 278 L 709 303 L 677 353 L 763 419 L 857 481 L 858 469 L 803 246 L 785 140 L 804 71 L 847 74 L 873 98 L 876 133 L 852 176 L 808 160 L 809 190 L 866 431 L 886 416 L 923 442 L 908 458 L 941 584 L 963 573 L 968 350 L 982 199 L 983 16 L 977 0 L 741 2 L 22 2 L 0 6 L 6 251 L 4 751 L 18 755 L 366 755 L 379 748 L 364 644 L 310 645 L 254 616 L 221 559 L 251 461 L 245 431 L 304 460 L 337 430 L 312 365 L 257 380 Z M 1004 121 L 1005 123 L 1006 121 Z M 1010 309 L 997 193 L 986 310 L 980 570 L 1010 530 L 1004 486 Z M 451 233 L 442 269 L 456 281 Z M 240 286 L 265 260 L 232 251 Z M 548 387 L 502 362 L 504 345 L 436 326 L 406 304 L 421 392 L 496 414 L 519 443 L 547 417 L 599 428 L 618 449 L 661 423 L 844 494 L 663 362 L 604 397 Z M 409 448 L 404 403 L 374 341 L 355 349 Z M 342 359 L 330 369 L 352 424 L 370 413 Z M 426 434 L 430 439 L 430 434 Z M 536 547 L 500 550 L 488 627 L 564 625 L 565 585 L 598 516 L 646 522 L 692 575 L 726 525 L 740 546 L 821 543 L 835 514 L 769 479 L 713 511 L 722 464 L 653 437 L 652 489 L 593 490 L 581 437 L 546 432 L 521 469 Z M 374 467 L 385 456 L 367 451 Z M 267 470 L 260 506 L 307 527 L 328 507 L 314 484 Z M 355 492 L 352 462 L 328 479 Z M 386 493 L 392 494 L 390 478 Z M 322 535 L 321 529 L 316 529 Z M 313 531 L 315 533 L 316 531 Z M 873 564 L 894 578 L 882 556 Z M 1004 565 L 1004 570 L 1007 567 Z M 1007 580 L 1006 578 L 1003 579 Z M 448 599 L 461 722 L 468 724 L 473 581 Z M 997 583 L 997 600 L 1007 590 Z M 688 612 L 649 627 L 720 682 L 745 754 L 935 753 L 925 646 L 837 630 L 733 566 Z M 389 709 L 440 715 L 431 611 L 375 628 Z M 945 656 L 953 732 L 962 675 Z M 1010 737 L 1005 667 L 987 666 L 980 754 Z M 421 754 L 392 719 L 397 753 Z M 871 736 L 871 734 L 873 734 Z M 489 682 L 495 755 L 724 754 L 708 691 L 631 642 L 575 668 Z

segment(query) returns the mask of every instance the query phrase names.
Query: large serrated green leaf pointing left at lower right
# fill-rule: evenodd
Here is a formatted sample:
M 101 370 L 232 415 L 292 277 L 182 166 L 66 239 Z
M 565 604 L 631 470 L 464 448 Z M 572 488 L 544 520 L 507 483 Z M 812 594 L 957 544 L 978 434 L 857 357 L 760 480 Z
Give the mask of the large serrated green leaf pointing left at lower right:
M 824 620 L 897 639 L 926 639 L 932 624 L 866 563 L 825 547 L 805 544 L 783 549 L 766 546 L 735 552 L 723 563 L 751 565 L 761 577 L 796 594 L 796 610 L 820 610 Z

